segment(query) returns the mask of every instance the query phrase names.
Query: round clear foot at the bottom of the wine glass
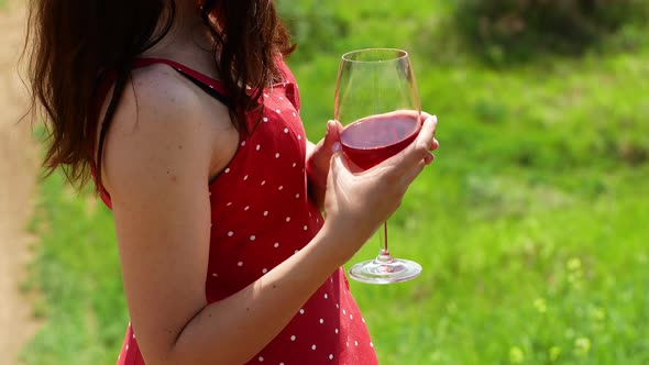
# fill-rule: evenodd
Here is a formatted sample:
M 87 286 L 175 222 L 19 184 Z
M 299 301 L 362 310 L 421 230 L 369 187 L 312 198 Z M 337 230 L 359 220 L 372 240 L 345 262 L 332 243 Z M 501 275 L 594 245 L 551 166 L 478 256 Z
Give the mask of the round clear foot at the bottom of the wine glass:
M 393 258 L 389 254 L 352 266 L 350 277 L 366 284 L 393 284 L 408 281 L 421 274 L 421 265 L 409 259 Z

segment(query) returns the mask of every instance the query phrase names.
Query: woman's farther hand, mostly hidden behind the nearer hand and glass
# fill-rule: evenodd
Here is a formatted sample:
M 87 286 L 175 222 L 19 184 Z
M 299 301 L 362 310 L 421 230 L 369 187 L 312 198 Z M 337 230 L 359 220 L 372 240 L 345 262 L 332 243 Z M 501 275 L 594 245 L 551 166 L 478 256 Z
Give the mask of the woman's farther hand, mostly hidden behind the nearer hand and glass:
M 307 145 L 307 179 L 309 193 L 320 210 L 324 206 L 324 190 L 327 190 L 327 174 L 333 151 L 333 144 L 340 141 L 342 125 L 336 121 L 327 122 L 327 133 L 318 144 Z M 307 142 L 310 144 L 310 142 Z

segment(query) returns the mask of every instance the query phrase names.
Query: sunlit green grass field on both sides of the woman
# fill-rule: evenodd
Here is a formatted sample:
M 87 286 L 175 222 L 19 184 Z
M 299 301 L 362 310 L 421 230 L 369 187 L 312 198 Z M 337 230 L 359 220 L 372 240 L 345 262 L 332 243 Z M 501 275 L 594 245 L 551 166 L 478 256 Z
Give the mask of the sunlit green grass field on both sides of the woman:
M 389 225 L 393 252 L 422 276 L 352 283 L 382 364 L 648 364 L 649 46 L 629 33 L 606 53 L 487 67 L 443 36 L 448 3 L 284 10 L 302 42 L 292 66 L 311 140 L 352 48 L 411 51 L 424 107 L 440 118 L 436 163 Z M 44 292 L 47 325 L 23 357 L 114 363 L 128 316 L 110 213 L 59 176 L 40 196 L 25 286 Z

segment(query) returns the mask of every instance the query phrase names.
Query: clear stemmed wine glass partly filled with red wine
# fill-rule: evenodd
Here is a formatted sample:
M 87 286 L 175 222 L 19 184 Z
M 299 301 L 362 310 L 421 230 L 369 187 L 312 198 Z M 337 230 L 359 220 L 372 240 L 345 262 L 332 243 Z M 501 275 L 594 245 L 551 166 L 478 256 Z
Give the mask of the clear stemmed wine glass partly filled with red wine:
M 370 48 L 342 56 L 336 86 L 334 119 L 343 126 L 342 151 L 362 169 L 395 155 L 421 128 L 421 106 L 408 53 Z M 387 222 L 376 258 L 353 265 L 350 277 L 369 284 L 410 280 L 421 273 L 415 262 L 387 250 Z

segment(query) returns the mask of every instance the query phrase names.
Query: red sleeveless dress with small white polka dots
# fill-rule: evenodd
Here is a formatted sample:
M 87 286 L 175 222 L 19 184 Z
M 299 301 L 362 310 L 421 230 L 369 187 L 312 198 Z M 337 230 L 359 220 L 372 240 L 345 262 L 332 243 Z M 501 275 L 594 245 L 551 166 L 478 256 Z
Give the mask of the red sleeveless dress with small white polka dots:
M 217 98 L 224 95 L 219 81 L 170 60 L 139 59 L 134 67 L 156 63 L 173 67 Z M 209 182 L 208 302 L 224 299 L 265 275 L 307 245 L 323 223 L 307 192 L 307 140 L 297 85 L 283 63 L 282 67 L 285 80 L 265 90 L 261 122 L 253 125 L 260 115 L 250 115 L 253 132 L 241 133 L 234 157 Z M 110 207 L 110 197 L 102 193 L 102 198 Z M 145 364 L 134 331 L 129 325 L 118 365 Z M 248 364 L 377 364 L 343 269 L 336 270 Z

